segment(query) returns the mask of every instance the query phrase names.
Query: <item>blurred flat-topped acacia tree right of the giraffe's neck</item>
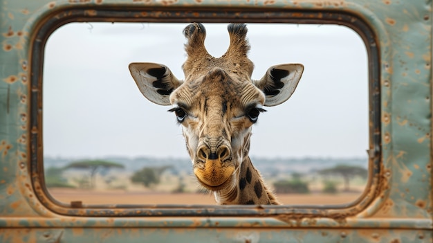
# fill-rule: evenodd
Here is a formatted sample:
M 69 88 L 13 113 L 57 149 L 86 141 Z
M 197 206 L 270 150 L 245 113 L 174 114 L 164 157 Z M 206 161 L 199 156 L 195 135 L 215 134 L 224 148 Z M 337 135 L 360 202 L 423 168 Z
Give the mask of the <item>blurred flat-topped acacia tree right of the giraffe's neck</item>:
M 367 170 L 360 166 L 354 165 L 335 165 L 333 168 L 326 168 L 317 171 L 319 174 L 324 175 L 339 175 L 344 179 L 344 191 L 349 192 L 350 179 L 356 176 L 367 178 Z

